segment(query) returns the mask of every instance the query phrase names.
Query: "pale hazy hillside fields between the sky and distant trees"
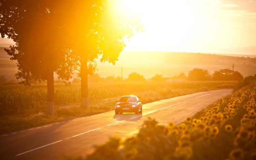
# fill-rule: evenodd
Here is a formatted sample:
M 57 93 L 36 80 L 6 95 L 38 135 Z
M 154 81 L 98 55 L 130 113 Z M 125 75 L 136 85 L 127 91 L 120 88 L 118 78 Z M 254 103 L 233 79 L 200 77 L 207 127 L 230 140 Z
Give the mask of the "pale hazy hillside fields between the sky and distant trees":
M 0 47 L 0 75 L 6 75 L 9 79 L 15 78 L 17 72 L 16 62 L 10 60 L 10 56 Z M 242 56 L 242 55 L 241 55 Z M 174 53 L 174 52 L 121 52 L 115 65 L 106 62 L 98 62 L 98 74 L 101 77 L 123 77 L 134 71 L 145 78 L 151 78 L 155 74 L 164 77 L 179 75 L 181 72 L 188 74 L 193 68 L 208 69 L 211 74 L 215 70 L 230 68 L 234 63 L 234 70 L 238 70 L 244 77 L 256 74 L 256 58 L 231 57 L 227 55 L 201 54 L 201 53 Z M 142 61 L 143 60 L 143 61 Z

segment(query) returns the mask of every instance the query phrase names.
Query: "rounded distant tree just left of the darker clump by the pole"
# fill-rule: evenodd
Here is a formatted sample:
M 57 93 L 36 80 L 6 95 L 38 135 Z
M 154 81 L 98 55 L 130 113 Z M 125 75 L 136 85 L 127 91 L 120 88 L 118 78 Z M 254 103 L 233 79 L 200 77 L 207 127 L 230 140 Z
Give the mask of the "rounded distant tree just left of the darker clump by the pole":
M 187 79 L 190 81 L 205 81 L 210 79 L 210 74 L 206 69 L 194 68 L 189 71 Z

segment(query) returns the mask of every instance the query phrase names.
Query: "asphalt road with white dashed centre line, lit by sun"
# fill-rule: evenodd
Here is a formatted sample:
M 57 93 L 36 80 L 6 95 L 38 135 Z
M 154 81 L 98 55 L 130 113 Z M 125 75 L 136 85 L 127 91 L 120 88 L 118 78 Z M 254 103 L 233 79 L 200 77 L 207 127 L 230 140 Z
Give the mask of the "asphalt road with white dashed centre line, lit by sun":
M 86 156 L 94 145 L 110 136 L 136 134 L 148 117 L 160 124 L 175 124 L 193 116 L 202 108 L 232 93 L 232 89 L 198 92 L 143 105 L 142 114 L 119 114 L 114 111 L 0 135 L 0 158 L 59 159 L 63 155 Z

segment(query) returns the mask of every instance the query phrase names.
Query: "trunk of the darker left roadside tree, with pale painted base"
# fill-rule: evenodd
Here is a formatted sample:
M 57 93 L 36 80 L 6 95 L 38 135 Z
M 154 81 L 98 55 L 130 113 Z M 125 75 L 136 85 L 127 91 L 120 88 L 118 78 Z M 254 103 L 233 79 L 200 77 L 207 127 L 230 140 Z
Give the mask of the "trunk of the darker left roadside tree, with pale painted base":
M 53 73 L 47 76 L 47 113 L 54 115 L 54 79 Z

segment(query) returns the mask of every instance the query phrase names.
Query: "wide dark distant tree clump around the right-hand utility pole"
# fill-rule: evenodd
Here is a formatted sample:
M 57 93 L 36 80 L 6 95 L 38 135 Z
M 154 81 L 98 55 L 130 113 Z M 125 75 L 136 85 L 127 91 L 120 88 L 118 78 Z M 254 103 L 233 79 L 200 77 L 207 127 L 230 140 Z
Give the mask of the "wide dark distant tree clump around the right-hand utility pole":
M 219 69 L 214 71 L 212 79 L 216 81 L 231 81 L 233 80 L 233 74 L 234 74 L 234 80 L 243 80 L 243 76 L 238 71 L 232 71 L 231 69 Z

